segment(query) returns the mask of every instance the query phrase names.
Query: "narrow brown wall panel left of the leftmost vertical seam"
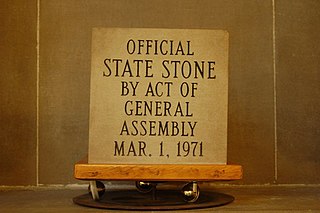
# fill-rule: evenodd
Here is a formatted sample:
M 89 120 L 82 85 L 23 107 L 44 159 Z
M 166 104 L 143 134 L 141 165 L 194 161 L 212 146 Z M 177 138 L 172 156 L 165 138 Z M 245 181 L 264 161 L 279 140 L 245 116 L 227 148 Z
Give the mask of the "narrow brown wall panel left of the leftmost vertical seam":
M 0 185 L 37 182 L 36 6 L 1 1 Z

